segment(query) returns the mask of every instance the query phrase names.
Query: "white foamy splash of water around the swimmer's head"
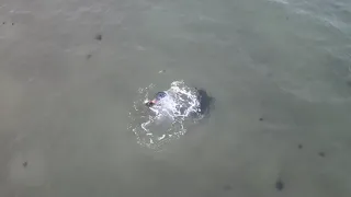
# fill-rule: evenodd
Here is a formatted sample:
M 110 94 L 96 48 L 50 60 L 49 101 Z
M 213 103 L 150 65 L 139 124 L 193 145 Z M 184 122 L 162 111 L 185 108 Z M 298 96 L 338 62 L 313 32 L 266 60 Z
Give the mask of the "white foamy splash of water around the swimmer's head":
M 167 95 L 152 107 L 145 106 L 155 85 L 138 90 L 138 99 L 129 112 L 128 127 L 137 137 L 137 142 L 150 149 L 159 149 L 166 142 L 183 136 L 188 127 L 203 118 L 200 99 L 195 88 L 183 81 L 174 81 Z

